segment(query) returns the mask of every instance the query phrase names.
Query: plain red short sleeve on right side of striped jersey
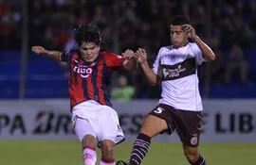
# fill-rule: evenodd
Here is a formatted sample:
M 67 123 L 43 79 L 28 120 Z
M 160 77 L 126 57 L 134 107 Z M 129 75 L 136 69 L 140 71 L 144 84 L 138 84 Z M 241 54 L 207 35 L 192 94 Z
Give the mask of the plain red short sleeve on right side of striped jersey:
M 103 56 L 105 57 L 106 66 L 110 70 L 115 71 L 123 67 L 123 61 L 125 60 L 125 58 L 114 53 L 106 52 L 103 52 Z

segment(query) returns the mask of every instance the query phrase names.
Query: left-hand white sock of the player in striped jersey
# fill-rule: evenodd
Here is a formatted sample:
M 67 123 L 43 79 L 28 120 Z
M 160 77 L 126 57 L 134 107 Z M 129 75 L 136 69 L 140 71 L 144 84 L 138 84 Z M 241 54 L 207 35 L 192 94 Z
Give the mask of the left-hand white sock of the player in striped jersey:
M 83 165 L 95 165 L 97 161 L 97 153 L 90 148 L 84 148 L 82 151 Z

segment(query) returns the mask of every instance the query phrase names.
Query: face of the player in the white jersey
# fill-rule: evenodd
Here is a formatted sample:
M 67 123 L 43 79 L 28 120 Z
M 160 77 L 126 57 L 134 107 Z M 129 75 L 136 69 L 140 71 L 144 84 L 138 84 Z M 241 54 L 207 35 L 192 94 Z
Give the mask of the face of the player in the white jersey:
M 170 34 L 171 34 L 171 41 L 176 47 L 182 47 L 188 41 L 186 33 L 182 29 L 181 25 L 171 25 Z

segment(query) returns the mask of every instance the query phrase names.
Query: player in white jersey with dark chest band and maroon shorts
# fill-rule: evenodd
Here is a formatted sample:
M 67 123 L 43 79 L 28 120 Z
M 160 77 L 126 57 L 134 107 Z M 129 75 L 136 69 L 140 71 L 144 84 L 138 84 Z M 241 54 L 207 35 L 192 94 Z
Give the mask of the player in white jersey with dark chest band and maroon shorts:
M 139 48 L 136 52 L 137 61 L 148 81 L 152 85 L 161 83 L 161 98 L 140 128 L 129 163 L 119 160 L 118 165 L 140 164 L 146 157 L 151 139 L 163 132 L 172 134 L 174 130 L 190 164 L 206 165 L 206 160 L 198 152 L 203 108 L 198 90 L 197 66 L 204 61 L 214 60 L 215 55 L 196 35 L 185 17 L 176 16 L 170 32 L 172 45 L 159 50 L 153 69 L 147 62 L 146 51 Z

